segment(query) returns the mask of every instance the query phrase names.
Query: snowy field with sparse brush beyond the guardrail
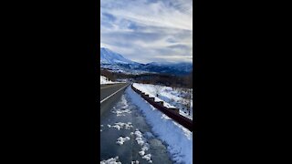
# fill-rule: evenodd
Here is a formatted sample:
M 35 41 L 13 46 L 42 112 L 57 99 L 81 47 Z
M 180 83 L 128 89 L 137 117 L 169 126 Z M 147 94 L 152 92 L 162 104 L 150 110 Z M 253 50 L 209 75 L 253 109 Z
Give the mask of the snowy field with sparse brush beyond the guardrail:
M 150 97 L 155 97 L 155 101 L 164 101 L 164 106 L 167 108 L 170 107 L 179 108 L 181 115 L 183 115 L 186 118 L 193 119 L 193 89 L 184 89 L 180 87 L 165 87 L 159 85 L 140 83 L 134 83 L 133 87 L 136 87 L 142 92 L 149 94 Z M 189 115 L 187 106 L 190 106 L 191 108 L 191 115 Z

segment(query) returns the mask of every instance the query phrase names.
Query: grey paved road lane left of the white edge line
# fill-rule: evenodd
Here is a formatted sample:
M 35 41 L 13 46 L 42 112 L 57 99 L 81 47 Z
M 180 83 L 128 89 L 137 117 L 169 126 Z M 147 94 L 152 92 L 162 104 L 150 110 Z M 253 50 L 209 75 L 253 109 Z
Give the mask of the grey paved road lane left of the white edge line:
M 118 91 L 120 88 L 128 86 L 128 83 L 118 83 L 111 85 L 100 85 L 100 101 L 109 97 L 111 94 Z

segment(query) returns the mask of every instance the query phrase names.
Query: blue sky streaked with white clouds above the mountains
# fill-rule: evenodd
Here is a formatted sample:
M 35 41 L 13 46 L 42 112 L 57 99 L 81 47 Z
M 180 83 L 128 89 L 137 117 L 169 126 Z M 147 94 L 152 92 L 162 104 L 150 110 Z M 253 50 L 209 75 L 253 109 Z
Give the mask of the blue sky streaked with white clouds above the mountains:
M 193 0 L 100 0 L 100 47 L 143 64 L 193 61 Z

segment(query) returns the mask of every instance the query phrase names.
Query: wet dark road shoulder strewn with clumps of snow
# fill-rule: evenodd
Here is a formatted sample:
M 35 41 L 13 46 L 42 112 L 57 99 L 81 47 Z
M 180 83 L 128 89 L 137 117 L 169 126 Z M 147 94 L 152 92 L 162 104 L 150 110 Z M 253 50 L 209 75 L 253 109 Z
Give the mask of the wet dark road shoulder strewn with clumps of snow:
M 165 145 L 151 133 L 126 92 L 100 118 L 100 159 L 115 157 L 122 164 L 172 163 Z

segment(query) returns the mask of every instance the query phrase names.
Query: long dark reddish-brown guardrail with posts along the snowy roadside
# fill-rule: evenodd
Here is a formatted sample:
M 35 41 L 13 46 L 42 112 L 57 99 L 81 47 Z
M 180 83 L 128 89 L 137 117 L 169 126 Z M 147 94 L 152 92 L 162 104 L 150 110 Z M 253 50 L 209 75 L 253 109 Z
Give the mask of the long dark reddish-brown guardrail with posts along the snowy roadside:
M 154 97 L 149 97 L 149 95 L 141 92 L 141 90 L 133 87 L 133 85 L 130 86 L 136 93 L 141 95 L 147 102 L 149 102 L 154 108 L 159 109 L 164 113 L 166 116 L 172 118 L 177 123 L 181 124 L 184 128 L 188 128 L 190 131 L 193 131 L 193 120 L 189 118 L 185 118 L 179 113 L 178 108 L 166 108 L 163 106 L 163 102 L 154 101 Z

